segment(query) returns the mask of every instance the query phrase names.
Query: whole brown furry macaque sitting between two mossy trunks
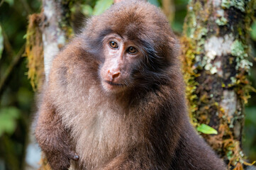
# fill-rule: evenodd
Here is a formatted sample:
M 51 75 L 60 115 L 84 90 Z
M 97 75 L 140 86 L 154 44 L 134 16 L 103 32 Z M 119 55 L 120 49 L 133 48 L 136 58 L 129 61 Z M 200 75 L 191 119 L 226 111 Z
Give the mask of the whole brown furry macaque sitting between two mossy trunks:
M 114 4 L 55 57 L 35 137 L 53 170 L 223 170 L 189 123 L 179 42 L 146 1 Z

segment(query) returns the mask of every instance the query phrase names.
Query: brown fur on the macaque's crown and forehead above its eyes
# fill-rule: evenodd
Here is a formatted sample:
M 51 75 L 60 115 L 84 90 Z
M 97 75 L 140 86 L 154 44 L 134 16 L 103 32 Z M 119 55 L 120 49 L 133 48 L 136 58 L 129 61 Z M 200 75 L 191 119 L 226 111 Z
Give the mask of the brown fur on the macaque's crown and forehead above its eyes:
M 165 14 L 146 1 L 123 0 L 113 4 L 100 16 L 94 16 L 87 22 L 84 33 L 90 44 L 99 44 L 109 33 L 116 33 L 129 40 L 140 42 L 143 47 L 161 52 L 174 40 Z M 175 42 L 175 41 L 173 41 Z

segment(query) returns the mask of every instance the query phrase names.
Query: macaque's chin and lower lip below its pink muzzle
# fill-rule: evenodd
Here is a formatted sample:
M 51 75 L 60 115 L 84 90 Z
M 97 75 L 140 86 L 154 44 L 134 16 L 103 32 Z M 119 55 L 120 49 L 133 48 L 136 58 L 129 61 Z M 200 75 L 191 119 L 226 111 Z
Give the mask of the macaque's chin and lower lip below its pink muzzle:
M 116 94 L 116 93 L 121 92 L 124 89 L 126 89 L 125 84 L 117 84 L 117 83 L 113 83 L 111 81 L 106 81 L 106 80 L 101 81 L 101 84 L 102 84 L 104 91 L 106 91 L 108 93 Z

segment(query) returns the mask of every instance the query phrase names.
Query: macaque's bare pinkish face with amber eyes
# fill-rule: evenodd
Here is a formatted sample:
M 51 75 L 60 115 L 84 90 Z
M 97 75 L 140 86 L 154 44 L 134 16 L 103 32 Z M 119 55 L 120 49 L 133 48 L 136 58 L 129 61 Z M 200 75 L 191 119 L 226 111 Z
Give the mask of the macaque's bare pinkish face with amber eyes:
M 103 40 L 104 64 L 100 69 L 104 91 L 118 93 L 133 86 L 133 73 L 143 61 L 143 52 L 134 40 L 116 34 Z

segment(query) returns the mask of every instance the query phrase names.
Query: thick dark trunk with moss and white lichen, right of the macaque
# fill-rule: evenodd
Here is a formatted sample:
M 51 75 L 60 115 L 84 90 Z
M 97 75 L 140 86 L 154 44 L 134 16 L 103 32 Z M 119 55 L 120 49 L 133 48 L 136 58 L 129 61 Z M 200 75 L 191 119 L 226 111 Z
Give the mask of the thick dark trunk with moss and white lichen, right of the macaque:
M 218 131 L 202 135 L 236 169 L 247 164 L 241 140 L 250 89 L 246 75 L 252 66 L 247 39 L 255 7 L 253 0 L 191 0 L 181 40 L 192 121 Z

